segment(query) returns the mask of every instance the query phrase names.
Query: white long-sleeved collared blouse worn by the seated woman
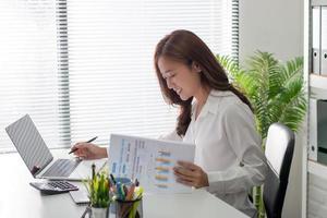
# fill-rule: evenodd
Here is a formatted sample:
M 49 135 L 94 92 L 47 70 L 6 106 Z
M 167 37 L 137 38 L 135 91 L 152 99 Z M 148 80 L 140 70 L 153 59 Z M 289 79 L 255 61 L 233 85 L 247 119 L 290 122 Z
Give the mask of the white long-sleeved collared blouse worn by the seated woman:
M 194 162 L 208 175 L 207 191 L 255 216 L 247 193 L 264 182 L 267 165 L 252 111 L 231 92 L 211 90 L 196 120 L 195 106 L 185 136 L 172 132 L 164 138 L 195 144 Z

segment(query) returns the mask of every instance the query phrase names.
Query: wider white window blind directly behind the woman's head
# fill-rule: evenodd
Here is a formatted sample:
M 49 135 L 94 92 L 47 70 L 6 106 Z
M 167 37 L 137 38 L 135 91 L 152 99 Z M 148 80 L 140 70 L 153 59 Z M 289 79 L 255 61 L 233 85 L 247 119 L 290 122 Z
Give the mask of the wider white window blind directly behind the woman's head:
M 172 131 L 153 65 L 156 44 L 173 29 L 232 51 L 232 4 L 225 0 L 68 1 L 72 141 L 111 133 L 157 137 Z

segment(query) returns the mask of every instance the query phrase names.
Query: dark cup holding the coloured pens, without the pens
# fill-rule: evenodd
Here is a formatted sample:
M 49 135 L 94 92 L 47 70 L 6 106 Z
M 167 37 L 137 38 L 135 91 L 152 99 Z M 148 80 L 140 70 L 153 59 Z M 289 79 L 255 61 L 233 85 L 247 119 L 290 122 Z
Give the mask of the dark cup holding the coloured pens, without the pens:
M 116 218 L 143 218 L 142 197 L 134 201 L 116 199 Z

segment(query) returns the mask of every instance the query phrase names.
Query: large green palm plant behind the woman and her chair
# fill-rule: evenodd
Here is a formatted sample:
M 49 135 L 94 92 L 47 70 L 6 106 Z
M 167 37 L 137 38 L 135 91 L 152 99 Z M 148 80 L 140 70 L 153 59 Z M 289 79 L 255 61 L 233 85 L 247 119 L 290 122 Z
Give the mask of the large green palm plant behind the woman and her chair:
M 295 132 L 300 129 L 307 108 L 303 58 L 294 58 L 282 64 L 272 53 L 256 51 L 246 62 L 246 68 L 241 68 L 231 57 L 217 56 L 217 60 L 229 73 L 233 85 L 251 101 L 264 150 L 271 123 L 283 123 Z M 264 217 L 261 187 L 253 193 L 259 217 Z

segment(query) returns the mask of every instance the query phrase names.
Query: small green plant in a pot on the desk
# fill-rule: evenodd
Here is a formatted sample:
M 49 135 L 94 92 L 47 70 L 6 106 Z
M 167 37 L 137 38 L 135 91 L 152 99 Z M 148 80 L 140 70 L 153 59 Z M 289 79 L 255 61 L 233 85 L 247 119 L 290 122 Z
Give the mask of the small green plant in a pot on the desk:
M 112 202 L 108 172 L 95 173 L 95 165 L 93 165 L 92 179 L 87 180 L 85 184 L 88 192 L 92 217 L 107 218 L 109 216 L 109 206 Z

